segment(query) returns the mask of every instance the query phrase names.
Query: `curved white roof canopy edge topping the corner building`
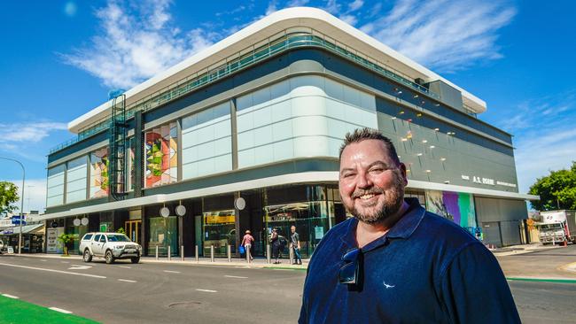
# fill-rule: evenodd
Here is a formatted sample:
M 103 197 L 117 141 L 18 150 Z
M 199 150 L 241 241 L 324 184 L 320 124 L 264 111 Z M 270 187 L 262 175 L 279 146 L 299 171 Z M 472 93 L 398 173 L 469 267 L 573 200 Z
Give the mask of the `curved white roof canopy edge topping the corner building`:
M 373 37 L 346 24 L 346 22 L 332 16 L 330 13 L 308 7 L 295 7 L 274 12 L 222 41 L 216 42 L 206 50 L 199 51 L 181 63 L 126 91 L 126 104 L 128 106 L 135 103 L 160 89 L 166 88 L 175 81 L 183 80 L 193 73 L 213 66 L 222 59 L 244 50 L 250 44 L 261 42 L 292 27 L 310 27 L 324 35 L 330 35 L 339 42 L 346 44 L 346 46 L 358 50 L 371 58 L 376 58 L 380 62 L 384 62 L 386 66 L 392 67 L 412 80 L 420 78 L 426 82 L 444 81 L 462 93 L 463 103 L 473 112 L 486 111 L 486 103 L 477 96 L 457 87 L 452 82 L 440 77 L 440 75 L 433 73 L 382 42 L 378 42 Z M 111 105 L 112 101 L 99 105 L 97 108 L 71 121 L 68 124 L 68 129 L 78 133 L 82 128 L 89 127 L 98 120 L 102 120 L 110 114 Z

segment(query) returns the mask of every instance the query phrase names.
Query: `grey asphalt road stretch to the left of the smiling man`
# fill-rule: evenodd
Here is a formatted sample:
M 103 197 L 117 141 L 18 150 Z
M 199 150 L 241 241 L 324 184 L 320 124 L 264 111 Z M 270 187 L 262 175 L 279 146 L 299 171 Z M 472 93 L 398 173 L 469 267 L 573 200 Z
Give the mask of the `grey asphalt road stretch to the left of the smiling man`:
M 0 256 L 0 293 L 105 323 L 298 320 L 304 271 L 117 262 Z

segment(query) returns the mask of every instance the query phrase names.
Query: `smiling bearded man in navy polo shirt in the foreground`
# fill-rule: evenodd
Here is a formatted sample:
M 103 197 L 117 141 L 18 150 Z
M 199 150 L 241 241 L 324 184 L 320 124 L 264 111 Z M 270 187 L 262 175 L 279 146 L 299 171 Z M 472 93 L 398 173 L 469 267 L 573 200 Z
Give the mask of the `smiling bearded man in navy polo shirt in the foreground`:
M 347 134 L 346 220 L 308 266 L 300 323 L 519 323 L 498 262 L 463 228 L 403 199 L 406 166 L 369 128 Z

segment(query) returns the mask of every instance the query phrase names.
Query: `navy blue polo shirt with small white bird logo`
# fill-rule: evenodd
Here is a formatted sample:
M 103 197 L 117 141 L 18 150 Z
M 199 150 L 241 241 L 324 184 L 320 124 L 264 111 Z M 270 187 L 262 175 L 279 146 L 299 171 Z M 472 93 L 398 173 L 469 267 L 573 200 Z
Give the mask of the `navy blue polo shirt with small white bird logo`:
M 388 233 L 362 248 L 362 291 L 339 283 L 358 220 L 331 228 L 308 266 L 299 323 L 519 323 L 494 255 L 415 198 Z

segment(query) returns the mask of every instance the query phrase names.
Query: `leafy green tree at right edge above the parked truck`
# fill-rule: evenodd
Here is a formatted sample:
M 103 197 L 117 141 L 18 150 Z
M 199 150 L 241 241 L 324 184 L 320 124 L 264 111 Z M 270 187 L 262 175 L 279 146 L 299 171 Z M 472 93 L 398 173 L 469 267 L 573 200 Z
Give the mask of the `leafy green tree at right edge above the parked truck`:
M 537 179 L 530 194 L 540 196 L 539 201 L 530 203 L 539 211 L 576 209 L 576 161 L 572 161 L 570 170 L 551 171 Z

